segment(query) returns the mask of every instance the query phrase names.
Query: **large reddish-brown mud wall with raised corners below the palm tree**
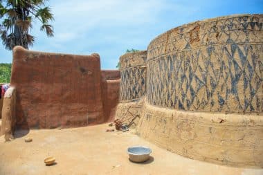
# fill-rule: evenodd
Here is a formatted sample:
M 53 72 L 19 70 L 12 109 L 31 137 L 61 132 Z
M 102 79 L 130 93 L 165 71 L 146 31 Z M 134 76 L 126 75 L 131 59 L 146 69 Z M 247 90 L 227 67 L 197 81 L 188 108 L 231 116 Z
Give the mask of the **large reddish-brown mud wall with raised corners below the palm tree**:
M 100 57 L 13 50 L 17 127 L 78 127 L 103 122 Z

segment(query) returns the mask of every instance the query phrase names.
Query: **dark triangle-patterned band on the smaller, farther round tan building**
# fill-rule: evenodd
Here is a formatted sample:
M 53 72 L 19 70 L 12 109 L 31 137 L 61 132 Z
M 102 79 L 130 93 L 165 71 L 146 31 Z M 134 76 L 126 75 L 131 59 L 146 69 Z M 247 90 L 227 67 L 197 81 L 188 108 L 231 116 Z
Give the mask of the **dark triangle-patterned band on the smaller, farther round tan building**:
M 146 68 L 140 66 L 120 71 L 120 101 L 136 100 L 146 92 Z

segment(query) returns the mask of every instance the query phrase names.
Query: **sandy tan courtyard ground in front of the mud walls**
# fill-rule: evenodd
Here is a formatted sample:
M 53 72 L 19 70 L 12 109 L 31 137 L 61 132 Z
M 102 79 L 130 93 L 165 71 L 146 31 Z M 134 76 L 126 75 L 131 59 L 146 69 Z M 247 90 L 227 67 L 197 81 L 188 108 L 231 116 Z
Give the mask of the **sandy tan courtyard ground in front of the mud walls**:
M 133 131 L 105 132 L 108 125 L 74 129 L 19 131 L 15 140 L 0 137 L 0 174 L 263 174 L 263 169 L 244 169 L 184 158 L 161 149 L 133 134 Z M 26 137 L 33 142 L 24 142 Z M 152 148 L 146 163 L 132 163 L 127 147 Z M 56 164 L 46 166 L 44 158 L 54 156 Z

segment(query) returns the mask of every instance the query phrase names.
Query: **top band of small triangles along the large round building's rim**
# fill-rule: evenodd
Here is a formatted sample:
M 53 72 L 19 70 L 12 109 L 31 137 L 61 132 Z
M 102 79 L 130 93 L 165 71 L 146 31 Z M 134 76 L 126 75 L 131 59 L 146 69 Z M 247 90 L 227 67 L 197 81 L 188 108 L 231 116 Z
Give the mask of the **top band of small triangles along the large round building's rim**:
M 185 24 L 152 40 L 147 48 L 147 61 L 211 44 L 262 44 L 262 29 L 263 15 L 218 17 Z

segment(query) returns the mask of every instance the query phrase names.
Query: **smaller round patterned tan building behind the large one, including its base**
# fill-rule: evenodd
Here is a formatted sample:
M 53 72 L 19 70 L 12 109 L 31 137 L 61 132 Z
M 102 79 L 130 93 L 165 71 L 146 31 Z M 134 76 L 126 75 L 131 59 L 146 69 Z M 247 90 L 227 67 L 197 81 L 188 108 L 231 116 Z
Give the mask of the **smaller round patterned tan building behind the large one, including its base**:
M 146 51 L 120 57 L 120 103 L 115 118 L 135 127 L 141 115 L 146 93 Z

